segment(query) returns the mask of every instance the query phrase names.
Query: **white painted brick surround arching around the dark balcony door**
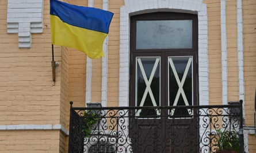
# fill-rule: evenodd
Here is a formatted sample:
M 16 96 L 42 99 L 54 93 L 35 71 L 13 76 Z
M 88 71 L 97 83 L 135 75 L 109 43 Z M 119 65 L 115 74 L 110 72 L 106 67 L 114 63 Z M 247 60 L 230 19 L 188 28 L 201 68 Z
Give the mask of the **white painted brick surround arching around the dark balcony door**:
M 202 0 L 125 0 L 120 10 L 119 106 L 129 105 L 129 15 L 159 9 L 198 14 L 198 69 L 200 105 L 209 104 L 207 6 Z

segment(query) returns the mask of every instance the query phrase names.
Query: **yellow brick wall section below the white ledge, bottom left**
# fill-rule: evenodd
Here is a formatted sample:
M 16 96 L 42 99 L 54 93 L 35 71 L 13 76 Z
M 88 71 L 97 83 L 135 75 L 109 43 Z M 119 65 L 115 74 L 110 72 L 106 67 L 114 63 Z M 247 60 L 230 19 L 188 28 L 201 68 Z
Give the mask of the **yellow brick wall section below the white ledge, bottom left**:
M 59 131 L 0 131 L 0 152 L 59 152 Z

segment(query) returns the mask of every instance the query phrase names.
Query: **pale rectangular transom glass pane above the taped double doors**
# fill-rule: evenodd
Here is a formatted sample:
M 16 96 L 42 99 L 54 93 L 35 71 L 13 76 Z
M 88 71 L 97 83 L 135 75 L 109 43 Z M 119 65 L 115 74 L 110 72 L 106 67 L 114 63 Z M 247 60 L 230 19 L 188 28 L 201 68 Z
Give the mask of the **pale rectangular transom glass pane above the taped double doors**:
M 136 49 L 192 48 L 192 19 L 136 22 Z

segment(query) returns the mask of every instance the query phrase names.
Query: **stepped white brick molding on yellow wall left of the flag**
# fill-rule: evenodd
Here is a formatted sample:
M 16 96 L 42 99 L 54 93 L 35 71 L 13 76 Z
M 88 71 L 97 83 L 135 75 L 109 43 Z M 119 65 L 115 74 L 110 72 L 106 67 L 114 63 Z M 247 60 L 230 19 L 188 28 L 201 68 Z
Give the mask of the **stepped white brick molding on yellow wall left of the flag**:
M 43 0 L 8 0 L 7 33 L 18 33 L 18 46 L 30 48 L 31 33 L 43 33 Z

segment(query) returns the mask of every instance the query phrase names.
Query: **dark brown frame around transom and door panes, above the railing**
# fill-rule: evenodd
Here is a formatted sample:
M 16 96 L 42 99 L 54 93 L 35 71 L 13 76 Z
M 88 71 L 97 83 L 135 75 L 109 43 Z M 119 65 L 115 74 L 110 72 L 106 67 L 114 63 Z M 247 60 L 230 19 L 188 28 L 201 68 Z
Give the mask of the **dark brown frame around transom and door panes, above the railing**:
M 136 21 L 142 20 L 166 20 L 166 19 L 192 19 L 192 48 L 183 48 L 183 49 L 136 49 Z M 167 104 L 167 95 L 168 95 L 168 85 L 167 83 L 167 65 L 168 62 L 165 58 L 168 56 L 193 56 L 193 105 L 198 105 L 198 18 L 197 14 L 189 13 L 173 13 L 173 12 L 155 12 L 155 13 L 146 13 L 134 15 L 131 17 L 131 26 L 130 26 L 130 81 L 129 81 L 129 105 L 135 105 L 135 88 L 136 88 L 136 57 L 138 56 L 159 56 L 161 55 L 161 76 L 165 76 L 165 81 L 161 81 L 161 101 L 166 101 L 161 105 Z M 165 96 L 162 96 L 165 95 Z M 131 99 L 133 97 L 133 99 Z

